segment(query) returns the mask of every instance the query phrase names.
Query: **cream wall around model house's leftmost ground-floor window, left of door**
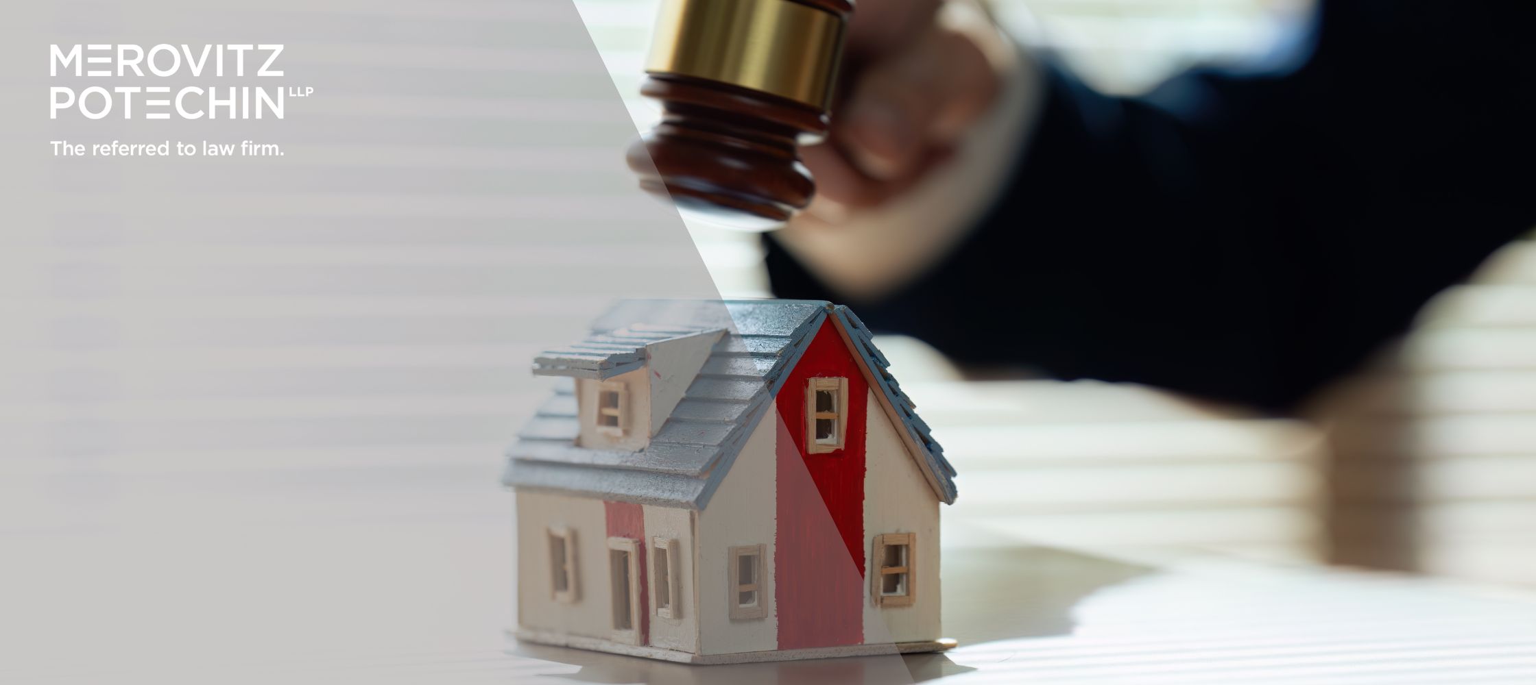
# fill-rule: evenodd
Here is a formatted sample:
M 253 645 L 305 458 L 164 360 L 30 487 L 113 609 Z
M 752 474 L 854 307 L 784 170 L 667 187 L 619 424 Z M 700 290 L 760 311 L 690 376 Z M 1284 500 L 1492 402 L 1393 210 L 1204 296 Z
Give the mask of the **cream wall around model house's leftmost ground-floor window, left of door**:
M 587 637 L 613 634 L 608 584 L 608 522 L 602 501 L 568 495 L 518 491 L 518 624 L 524 628 Z M 554 601 L 548 527 L 576 531 L 578 597 Z

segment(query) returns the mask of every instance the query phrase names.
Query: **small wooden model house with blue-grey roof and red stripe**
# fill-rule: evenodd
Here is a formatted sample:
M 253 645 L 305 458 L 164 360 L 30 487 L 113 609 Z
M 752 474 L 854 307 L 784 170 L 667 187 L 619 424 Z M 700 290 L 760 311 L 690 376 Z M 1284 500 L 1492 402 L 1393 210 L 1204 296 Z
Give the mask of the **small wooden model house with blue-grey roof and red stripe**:
M 945 461 L 822 301 L 625 301 L 508 448 L 521 639 L 691 663 L 934 651 Z

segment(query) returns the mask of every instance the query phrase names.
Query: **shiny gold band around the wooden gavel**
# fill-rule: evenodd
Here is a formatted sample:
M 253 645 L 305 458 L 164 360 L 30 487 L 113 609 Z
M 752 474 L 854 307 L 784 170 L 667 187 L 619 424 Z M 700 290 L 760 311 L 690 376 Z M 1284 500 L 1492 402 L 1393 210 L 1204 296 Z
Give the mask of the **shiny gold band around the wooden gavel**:
M 650 74 L 730 83 L 825 111 L 843 18 L 790 0 L 664 0 Z

